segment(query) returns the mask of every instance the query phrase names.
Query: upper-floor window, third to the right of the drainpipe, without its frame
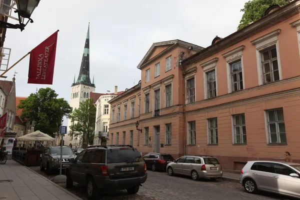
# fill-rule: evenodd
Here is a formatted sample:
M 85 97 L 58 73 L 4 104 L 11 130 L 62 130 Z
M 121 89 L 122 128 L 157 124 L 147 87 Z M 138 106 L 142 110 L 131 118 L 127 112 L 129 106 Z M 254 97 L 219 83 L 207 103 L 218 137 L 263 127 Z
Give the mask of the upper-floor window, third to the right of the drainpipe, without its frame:
M 238 91 L 243 89 L 241 60 L 230 64 L 231 90 Z

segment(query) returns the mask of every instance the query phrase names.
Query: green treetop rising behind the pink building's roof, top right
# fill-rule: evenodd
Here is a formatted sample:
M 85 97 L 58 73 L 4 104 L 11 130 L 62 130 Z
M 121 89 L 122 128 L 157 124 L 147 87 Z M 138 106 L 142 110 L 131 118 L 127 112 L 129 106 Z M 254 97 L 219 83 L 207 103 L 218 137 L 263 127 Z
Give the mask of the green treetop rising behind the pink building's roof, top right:
M 244 7 L 240 10 L 244 13 L 239 21 L 237 30 L 247 26 L 251 22 L 260 19 L 269 6 L 273 4 L 282 6 L 290 1 L 291 0 L 249 0 L 245 2 Z

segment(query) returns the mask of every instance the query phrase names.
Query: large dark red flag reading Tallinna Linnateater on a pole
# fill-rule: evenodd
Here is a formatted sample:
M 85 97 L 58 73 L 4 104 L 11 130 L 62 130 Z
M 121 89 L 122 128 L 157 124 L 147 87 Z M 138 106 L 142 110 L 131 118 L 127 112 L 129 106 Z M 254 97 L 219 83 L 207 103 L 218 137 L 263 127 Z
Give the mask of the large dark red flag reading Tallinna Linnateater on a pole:
M 27 83 L 52 84 L 58 31 L 30 51 Z

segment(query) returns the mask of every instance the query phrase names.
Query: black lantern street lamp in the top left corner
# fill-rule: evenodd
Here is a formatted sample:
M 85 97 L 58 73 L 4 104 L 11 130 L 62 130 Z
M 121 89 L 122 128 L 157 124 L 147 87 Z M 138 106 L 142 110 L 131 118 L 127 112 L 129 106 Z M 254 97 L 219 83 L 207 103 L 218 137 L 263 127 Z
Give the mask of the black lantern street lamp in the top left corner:
M 18 15 L 19 24 L 11 24 L 5 21 L 0 21 L 0 27 L 1 28 L 19 28 L 21 31 L 24 29 L 24 27 L 27 25 L 27 23 L 30 21 L 30 23 L 33 23 L 33 20 L 30 18 L 33 10 L 38 5 L 40 0 L 15 0 L 16 1 L 16 7 L 17 9 L 14 10 L 14 12 Z M 25 18 L 27 18 L 27 22 L 24 23 Z

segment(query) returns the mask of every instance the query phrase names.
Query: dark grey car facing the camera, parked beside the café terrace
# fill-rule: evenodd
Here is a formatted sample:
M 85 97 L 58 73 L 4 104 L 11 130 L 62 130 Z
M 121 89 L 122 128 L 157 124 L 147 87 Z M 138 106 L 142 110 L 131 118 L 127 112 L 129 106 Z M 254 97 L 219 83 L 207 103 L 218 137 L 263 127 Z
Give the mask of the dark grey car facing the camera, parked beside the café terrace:
M 42 171 L 46 169 L 49 173 L 52 170 L 60 169 L 60 150 L 61 146 L 46 146 L 43 149 L 43 153 L 40 157 L 40 167 Z M 62 165 L 61 168 L 65 168 L 70 159 L 74 159 L 76 155 L 69 146 L 62 146 Z

